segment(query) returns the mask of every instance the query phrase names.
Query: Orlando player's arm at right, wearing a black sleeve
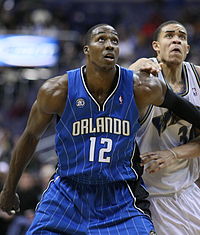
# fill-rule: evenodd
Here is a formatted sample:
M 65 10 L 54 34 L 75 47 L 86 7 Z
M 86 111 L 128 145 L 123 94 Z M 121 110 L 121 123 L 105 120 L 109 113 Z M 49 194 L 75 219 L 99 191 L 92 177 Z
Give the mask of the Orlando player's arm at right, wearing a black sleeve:
M 176 95 L 166 84 L 146 72 L 135 75 L 134 93 L 140 115 L 148 105 L 167 108 L 200 129 L 200 111 L 186 99 Z

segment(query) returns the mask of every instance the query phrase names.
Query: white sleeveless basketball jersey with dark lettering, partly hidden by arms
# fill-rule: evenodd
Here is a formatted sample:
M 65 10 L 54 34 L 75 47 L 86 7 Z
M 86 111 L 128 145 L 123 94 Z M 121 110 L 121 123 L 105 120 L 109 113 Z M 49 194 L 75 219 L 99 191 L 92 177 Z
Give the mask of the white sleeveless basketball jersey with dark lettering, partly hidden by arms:
M 157 61 L 156 58 L 152 59 Z M 200 78 L 194 65 L 184 62 L 183 75 L 186 89 L 179 95 L 200 107 Z M 158 78 L 167 83 L 162 72 L 159 72 Z M 187 143 L 191 134 L 192 125 L 190 123 L 181 120 L 168 109 L 150 106 L 141 120 L 141 127 L 136 139 L 142 154 Z M 187 188 L 198 179 L 199 172 L 200 157 L 181 159 L 174 160 L 170 166 L 156 173 L 144 172 L 143 179 L 150 195 L 162 195 Z

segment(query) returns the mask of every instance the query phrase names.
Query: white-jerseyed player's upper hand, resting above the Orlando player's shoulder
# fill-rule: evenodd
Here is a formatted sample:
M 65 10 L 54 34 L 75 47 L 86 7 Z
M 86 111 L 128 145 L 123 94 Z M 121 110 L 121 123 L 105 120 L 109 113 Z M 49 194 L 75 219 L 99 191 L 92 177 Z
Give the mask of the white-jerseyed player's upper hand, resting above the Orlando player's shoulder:
M 158 64 L 148 58 L 141 58 L 137 60 L 135 63 L 129 66 L 129 69 L 133 71 L 141 71 L 146 73 L 151 73 L 154 76 L 157 76 L 157 74 L 161 71 L 162 63 Z

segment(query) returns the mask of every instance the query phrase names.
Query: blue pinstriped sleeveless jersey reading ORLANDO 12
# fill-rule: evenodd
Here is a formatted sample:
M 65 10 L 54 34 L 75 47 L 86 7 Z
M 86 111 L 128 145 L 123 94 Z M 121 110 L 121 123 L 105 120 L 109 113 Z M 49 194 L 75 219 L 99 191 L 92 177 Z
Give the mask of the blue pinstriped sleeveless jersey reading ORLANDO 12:
M 87 184 L 137 179 L 132 166 L 139 128 L 133 72 L 117 68 L 117 85 L 102 106 L 87 89 L 83 67 L 67 72 L 67 103 L 56 125 L 61 177 Z

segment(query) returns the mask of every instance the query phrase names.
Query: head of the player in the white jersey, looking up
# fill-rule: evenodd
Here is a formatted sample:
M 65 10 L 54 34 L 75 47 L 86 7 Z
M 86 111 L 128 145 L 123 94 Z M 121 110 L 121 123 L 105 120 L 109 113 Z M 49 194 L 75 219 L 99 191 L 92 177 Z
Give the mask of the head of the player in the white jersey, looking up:
M 153 42 L 153 48 L 160 61 L 168 64 L 181 64 L 189 52 L 185 28 L 179 24 L 164 26 L 158 41 Z

